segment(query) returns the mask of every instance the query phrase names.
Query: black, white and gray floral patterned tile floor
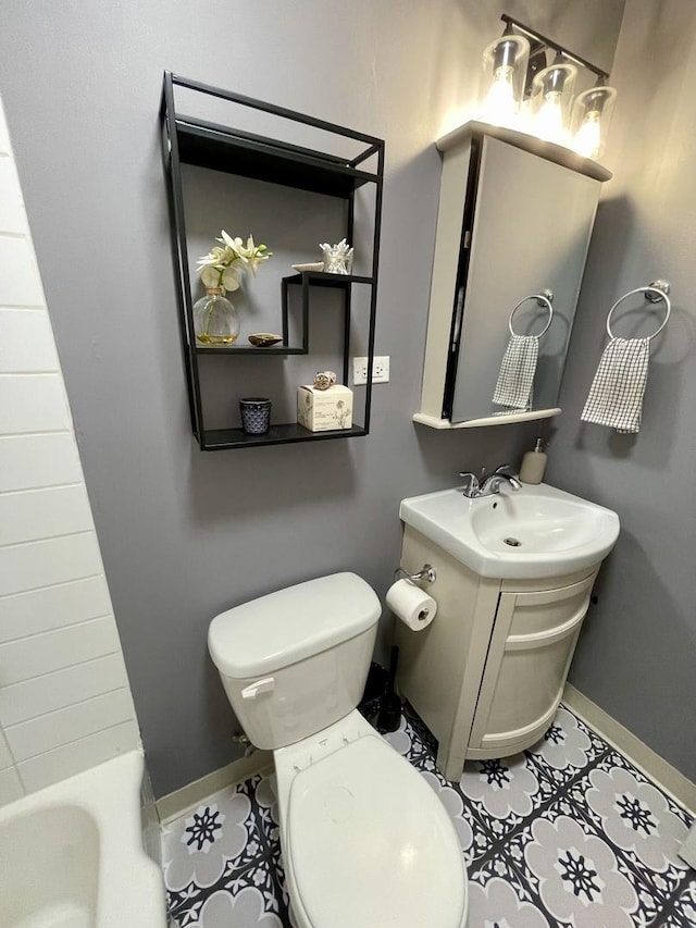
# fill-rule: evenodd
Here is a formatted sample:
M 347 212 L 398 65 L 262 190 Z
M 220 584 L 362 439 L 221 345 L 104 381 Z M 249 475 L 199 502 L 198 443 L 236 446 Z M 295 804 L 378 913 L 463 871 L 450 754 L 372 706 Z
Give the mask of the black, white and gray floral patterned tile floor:
M 452 817 L 470 928 L 696 926 L 696 871 L 676 855 L 688 815 L 568 709 L 531 751 L 469 763 L 459 783 L 437 771 L 408 708 L 386 738 Z M 162 844 L 182 928 L 296 928 L 273 776 L 211 796 L 166 826 Z

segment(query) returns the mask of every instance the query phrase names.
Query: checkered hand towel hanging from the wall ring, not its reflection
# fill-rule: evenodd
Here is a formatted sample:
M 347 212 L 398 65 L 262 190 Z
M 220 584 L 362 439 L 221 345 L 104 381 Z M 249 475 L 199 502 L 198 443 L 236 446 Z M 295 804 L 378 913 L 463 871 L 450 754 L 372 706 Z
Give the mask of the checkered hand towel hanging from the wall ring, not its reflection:
M 649 338 L 612 338 L 589 387 L 583 422 L 638 432 L 649 359 Z

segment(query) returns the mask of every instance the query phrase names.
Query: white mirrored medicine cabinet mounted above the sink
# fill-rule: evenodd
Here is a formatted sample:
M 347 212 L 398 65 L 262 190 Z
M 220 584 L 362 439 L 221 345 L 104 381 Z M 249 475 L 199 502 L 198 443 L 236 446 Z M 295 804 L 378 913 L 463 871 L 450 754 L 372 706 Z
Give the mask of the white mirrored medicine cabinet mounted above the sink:
M 569 149 L 471 122 L 437 143 L 439 212 L 421 408 L 415 422 L 471 428 L 558 414 L 558 396 L 601 183 L 611 174 Z M 532 400 L 493 403 L 510 314 L 549 295 Z M 543 300 L 512 332 L 539 335 Z

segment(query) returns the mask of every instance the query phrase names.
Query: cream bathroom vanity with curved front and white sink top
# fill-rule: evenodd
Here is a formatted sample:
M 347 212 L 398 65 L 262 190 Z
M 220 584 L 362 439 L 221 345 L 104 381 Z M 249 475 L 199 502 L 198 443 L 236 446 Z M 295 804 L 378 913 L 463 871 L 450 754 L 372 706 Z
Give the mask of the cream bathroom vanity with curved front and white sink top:
M 464 760 L 515 754 L 548 728 L 619 519 L 544 484 L 413 497 L 400 516 L 401 567 L 435 568 L 424 589 L 437 615 L 419 632 L 397 621 L 397 686 L 437 738 L 437 766 L 458 780 Z

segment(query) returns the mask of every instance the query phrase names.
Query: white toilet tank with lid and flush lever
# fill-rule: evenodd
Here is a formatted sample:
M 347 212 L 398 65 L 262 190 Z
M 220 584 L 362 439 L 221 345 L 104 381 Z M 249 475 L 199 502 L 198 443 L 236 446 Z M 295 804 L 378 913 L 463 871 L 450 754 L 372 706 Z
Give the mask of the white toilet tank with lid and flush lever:
M 334 573 L 212 620 L 210 655 L 252 744 L 285 747 L 356 708 L 381 613 L 364 580 Z

